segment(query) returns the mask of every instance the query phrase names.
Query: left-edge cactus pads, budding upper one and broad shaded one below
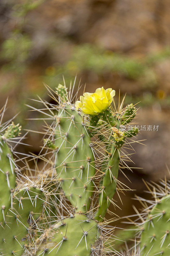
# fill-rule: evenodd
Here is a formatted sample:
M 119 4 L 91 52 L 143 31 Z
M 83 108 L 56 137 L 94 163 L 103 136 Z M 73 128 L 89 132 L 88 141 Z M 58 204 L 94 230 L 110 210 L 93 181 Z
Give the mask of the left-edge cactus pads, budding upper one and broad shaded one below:
M 0 132 L 0 255 L 22 255 L 28 250 L 26 243 L 41 234 L 39 219 L 42 222 L 44 193 L 26 184 L 16 186 L 19 167 L 12 156 L 10 141 L 18 137 L 20 130 L 21 126 L 12 122 L 2 125 Z

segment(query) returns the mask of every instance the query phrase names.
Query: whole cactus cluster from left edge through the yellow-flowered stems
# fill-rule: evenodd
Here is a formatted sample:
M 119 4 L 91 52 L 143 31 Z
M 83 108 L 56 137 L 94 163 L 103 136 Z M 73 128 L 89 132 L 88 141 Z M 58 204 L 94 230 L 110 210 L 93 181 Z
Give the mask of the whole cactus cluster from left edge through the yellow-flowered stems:
M 45 171 L 36 172 L 34 181 L 20 175 L 15 187 L 15 162 L 5 143 L 7 138 L 18 136 L 20 127 L 12 123 L 1 137 L 1 145 L 5 144 L 1 147 L 2 174 L 6 166 L 13 166 L 9 169 L 13 174 L 9 177 L 11 183 L 3 187 L 9 194 L 6 193 L 2 204 L 5 208 L 1 215 L 1 253 L 114 255 L 114 228 L 108 224 L 115 217 L 108 221 L 105 214 L 114 215 L 109 205 L 115 206 L 113 196 L 122 189 L 118 181 L 119 167 L 123 165 L 121 148 L 129 145 L 127 139 L 131 135 L 137 134 L 136 130 L 130 135 L 122 132 L 120 124 L 128 124 L 136 109 L 133 105 L 129 105 L 132 111 L 129 106 L 123 108 L 123 102 L 117 109 L 111 107 L 115 95 L 111 88 L 84 93 L 75 104 L 73 91 L 68 91 L 65 85 L 59 84 L 55 95 L 47 89 L 58 105 L 48 107 L 42 101 L 48 113 L 44 107 L 39 110 L 53 119 L 45 132 L 45 154 L 37 156 L 45 161 Z

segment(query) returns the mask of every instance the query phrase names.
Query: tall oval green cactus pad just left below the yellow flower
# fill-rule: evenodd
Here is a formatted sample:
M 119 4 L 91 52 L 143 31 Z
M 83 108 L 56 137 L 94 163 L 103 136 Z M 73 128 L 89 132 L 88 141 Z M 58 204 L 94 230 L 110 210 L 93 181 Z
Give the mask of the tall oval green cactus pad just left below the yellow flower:
M 72 106 L 62 108 L 56 121 L 57 178 L 75 210 L 84 212 L 89 208 L 93 191 L 91 177 L 95 174 L 90 134 Z

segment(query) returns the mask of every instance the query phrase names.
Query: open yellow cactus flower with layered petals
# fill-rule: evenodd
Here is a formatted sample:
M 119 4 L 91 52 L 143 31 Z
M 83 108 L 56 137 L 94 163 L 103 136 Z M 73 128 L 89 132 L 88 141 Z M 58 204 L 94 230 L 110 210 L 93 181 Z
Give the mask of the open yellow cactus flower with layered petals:
M 102 113 L 110 106 L 115 96 L 115 90 L 112 88 L 97 88 L 96 92 L 85 92 L 80 96 L 80 100 L 75 102 L 75 109 L 81 109 L 81 115 L 97 115 Z

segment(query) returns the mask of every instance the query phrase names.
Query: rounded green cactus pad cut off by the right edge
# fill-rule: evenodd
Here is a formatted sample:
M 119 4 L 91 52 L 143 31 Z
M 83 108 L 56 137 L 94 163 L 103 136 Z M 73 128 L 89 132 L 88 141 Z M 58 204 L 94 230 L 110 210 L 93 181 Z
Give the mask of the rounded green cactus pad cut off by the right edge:
M 148 214 L 140 248 L 142 256 L 170 255 L 170 195 L 163 197 Z

